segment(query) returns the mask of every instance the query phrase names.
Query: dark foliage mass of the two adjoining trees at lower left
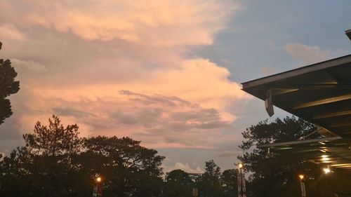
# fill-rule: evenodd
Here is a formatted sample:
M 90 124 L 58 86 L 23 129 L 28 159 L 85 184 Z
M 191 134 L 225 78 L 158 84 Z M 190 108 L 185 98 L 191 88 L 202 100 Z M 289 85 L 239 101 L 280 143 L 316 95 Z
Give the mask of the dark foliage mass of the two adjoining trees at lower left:
M 57 116 L 24 135 L 25 147 L 0 161 L 0 196 L 91 196 L 101 175 L 104 196 L 156 196 L 162 184 L 154 149 L 129 137 L 81 139 Z

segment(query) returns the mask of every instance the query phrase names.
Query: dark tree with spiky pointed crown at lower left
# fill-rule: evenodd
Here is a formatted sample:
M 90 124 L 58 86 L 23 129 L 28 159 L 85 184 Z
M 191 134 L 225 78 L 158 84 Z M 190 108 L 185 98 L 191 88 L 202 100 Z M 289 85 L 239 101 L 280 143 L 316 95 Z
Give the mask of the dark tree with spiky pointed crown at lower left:
M 37 122 L 34 133 L 23 135 L 25 147 L 18 147 L 1 161 L 1 182 L 7 184 L 2 192 L 78 196 L 72 190 L 77 177 L 72 158 L 82 145 L 78 135 L 77 125 L 64 127 L 54 115 L 48 127 Z M 26 186 L 18 188 L 18 183 Z

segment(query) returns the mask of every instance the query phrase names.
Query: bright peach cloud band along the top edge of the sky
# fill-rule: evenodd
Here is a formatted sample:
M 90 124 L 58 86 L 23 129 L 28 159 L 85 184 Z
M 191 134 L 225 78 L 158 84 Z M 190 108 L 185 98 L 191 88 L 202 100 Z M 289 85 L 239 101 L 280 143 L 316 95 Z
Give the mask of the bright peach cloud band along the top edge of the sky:
M 211 44 L 239 6 L 231 1 L 22 1 L 9 3 L 21 26 L 72 32 L 88 40 L 120 39 L 159 46 Z M 18 18 L 11 17 L 11 20 Z

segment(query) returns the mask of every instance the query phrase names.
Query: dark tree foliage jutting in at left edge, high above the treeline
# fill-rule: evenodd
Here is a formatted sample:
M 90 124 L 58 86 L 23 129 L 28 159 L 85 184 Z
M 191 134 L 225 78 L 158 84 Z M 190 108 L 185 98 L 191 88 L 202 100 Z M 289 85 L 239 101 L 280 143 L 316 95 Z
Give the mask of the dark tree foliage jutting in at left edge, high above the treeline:
M 0 50 L 1 46 L 0 42 Z M 11 102 L 6 97 L 20 90 L 20 82 L 15 81 L 16 76 L 17 72 L 11 66 L 11 61 L 0 59 L 0 124 L 13 114 Z

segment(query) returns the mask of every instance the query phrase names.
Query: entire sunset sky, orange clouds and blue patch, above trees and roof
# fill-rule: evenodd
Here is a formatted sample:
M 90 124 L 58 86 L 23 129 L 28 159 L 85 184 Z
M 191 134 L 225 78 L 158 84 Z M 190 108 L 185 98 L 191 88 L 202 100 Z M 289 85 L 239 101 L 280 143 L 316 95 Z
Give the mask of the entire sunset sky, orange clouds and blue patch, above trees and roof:
M 165 172 L 234 168 L 241 132 L 289 116 L 245 81 L 351 53 L 348 1 L 0 0 L 1 58 L 20 91 L 0 152 L 52 114 L 81 137 L 128 136 L 166 156 Z

